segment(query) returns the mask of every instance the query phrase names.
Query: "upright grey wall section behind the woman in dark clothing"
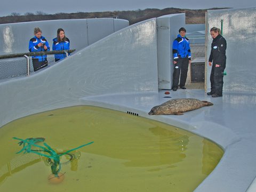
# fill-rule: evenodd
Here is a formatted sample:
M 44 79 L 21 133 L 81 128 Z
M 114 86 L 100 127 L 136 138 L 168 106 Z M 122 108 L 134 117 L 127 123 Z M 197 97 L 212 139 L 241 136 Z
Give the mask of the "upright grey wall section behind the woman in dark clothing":
M 207 60 L 211 53 L 212 27 L 221 28 L 227 41 L 227 75 L 224 76 L 223 92 L 256 93 L 256 7 L 247 9 L 209 10 L 206 19 Z M 207 89 L 210 90 L 211 67 L 207 64 Z

